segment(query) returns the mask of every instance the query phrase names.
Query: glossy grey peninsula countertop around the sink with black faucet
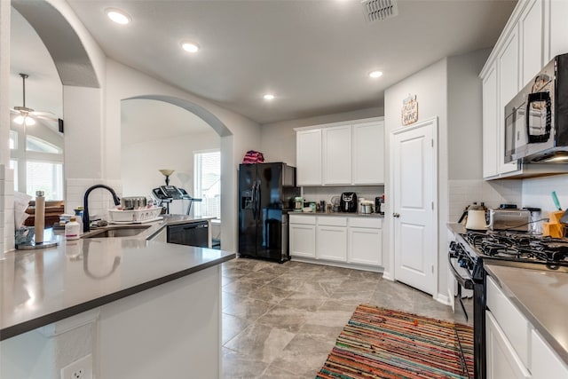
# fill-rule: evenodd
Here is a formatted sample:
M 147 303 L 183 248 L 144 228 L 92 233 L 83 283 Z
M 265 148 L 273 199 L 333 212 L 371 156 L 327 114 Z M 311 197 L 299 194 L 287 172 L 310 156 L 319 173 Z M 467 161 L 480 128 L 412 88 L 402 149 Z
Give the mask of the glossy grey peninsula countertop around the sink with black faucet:
M 233 252 L 146 240 L 201 219 L 167 217 L 134 237 L 56 235 L 57 247 L 4 253 L 0 341 L 233 259 Z

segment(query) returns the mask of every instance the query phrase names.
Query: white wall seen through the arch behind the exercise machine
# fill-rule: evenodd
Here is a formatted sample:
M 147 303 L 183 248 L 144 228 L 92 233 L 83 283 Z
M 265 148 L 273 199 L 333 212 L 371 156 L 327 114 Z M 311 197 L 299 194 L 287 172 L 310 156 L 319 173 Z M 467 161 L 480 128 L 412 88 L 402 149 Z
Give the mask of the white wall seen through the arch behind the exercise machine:
M 156 136 L 159 137 L 159 136 Z M 161 169 L 175 169 L 170 185 L 193 195 L 193 152 L 219 149 L 220 138 L 213 130 L 175 138 L 154 139 L 122 146 L 122 196 L 149 197 L 153 188 L 165 185 Z M 189 180 L 182 182 L 179 174 Z

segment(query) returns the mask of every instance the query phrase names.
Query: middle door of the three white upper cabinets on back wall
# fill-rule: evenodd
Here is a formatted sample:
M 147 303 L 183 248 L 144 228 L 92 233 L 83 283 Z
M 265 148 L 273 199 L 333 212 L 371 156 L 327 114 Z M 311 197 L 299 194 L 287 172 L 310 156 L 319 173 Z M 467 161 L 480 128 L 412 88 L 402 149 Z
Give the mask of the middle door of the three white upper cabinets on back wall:
M 351 184 L 351 125 L 324 128 L 321 130 L 321 135 L 323 184 Z

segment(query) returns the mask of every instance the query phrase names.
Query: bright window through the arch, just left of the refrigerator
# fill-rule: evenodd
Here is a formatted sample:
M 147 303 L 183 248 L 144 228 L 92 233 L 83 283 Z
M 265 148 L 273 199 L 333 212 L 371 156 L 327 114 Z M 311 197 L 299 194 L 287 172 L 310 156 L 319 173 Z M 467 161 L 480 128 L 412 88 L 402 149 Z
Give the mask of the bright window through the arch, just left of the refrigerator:
M 193 153 L 193 215 L 221 218 L 221 152 Z

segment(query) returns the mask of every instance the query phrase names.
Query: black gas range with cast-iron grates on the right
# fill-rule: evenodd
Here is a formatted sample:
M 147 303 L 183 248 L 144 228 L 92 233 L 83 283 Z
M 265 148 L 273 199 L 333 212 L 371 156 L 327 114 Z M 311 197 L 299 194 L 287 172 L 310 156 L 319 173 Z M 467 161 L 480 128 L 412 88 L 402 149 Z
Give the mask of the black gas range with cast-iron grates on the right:
M 528 233 L 454 233 L 448 252 L 449 268 L 461 288 L 473 289 L 475 378 L 485 379 L 485 278 L 484 265 L 507 265 L 534 270 L 568 272 L 568 240 Z M 466 313 L 467 317 L 467 313 Z

